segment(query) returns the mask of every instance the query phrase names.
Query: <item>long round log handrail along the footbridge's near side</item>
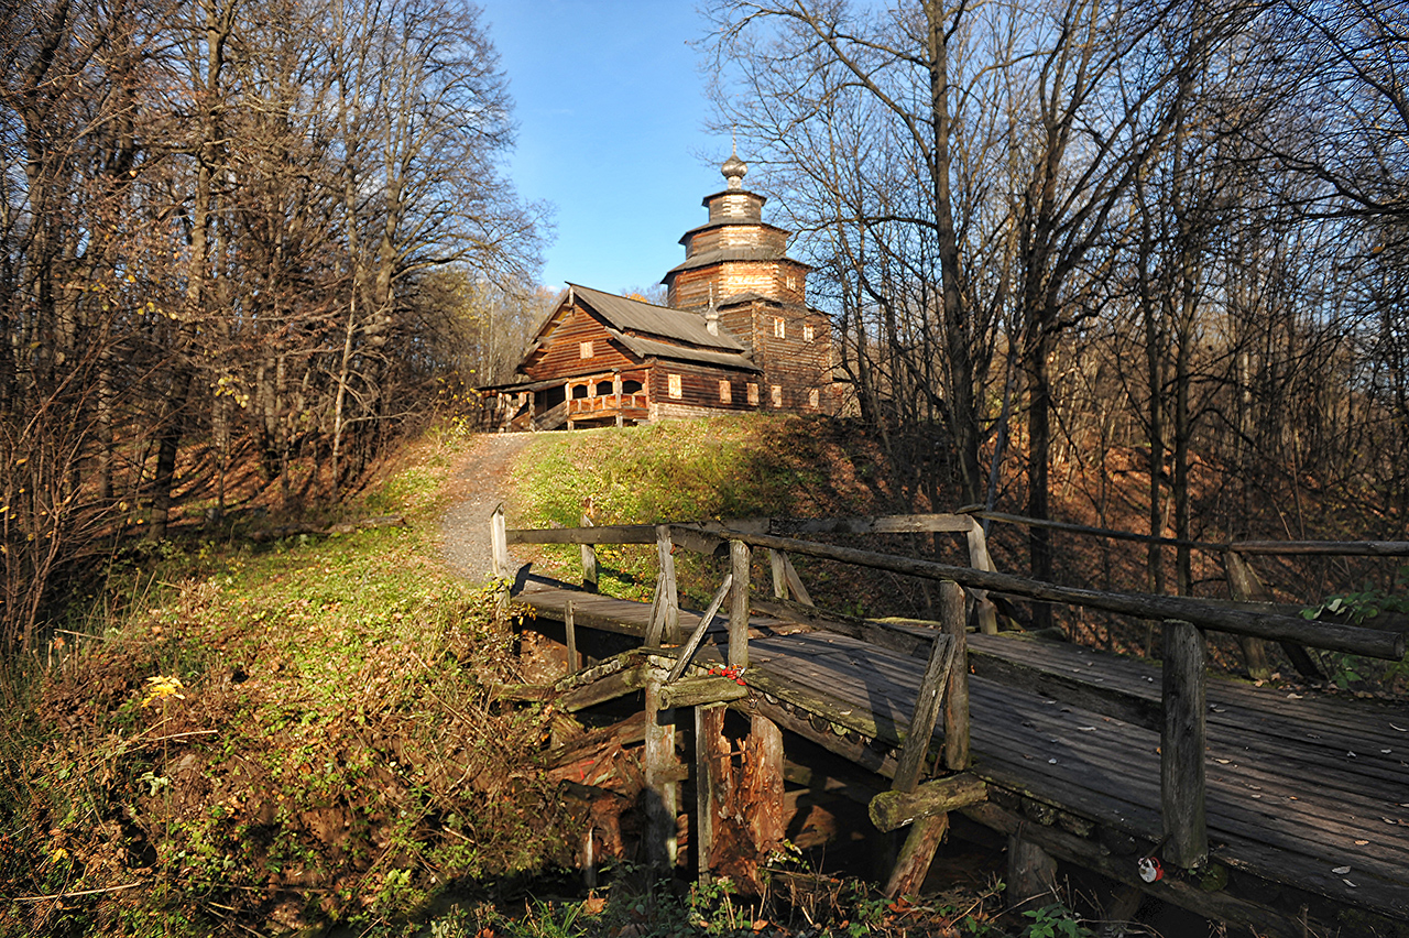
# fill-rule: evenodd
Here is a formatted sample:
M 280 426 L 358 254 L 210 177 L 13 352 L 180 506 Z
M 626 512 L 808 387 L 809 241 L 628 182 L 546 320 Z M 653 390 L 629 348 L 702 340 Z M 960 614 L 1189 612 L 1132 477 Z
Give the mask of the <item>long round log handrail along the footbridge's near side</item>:
M 890 570 L 930 580 L 954 580 L 964 587 L 1009 593 L 1053 603 L 1088 606 L 1112 613 L 1192 623 L 1239 635 L 1257 635 L 1277 641 L 1296 641 L 1327 651 L 1343 651 L 1386 661 L 1399 661 L 1405 654 L 1405 637 L 1398 632 L 1378 632 L 1353 625 L 1309 623 L 1301 618 L 1260 615 L 1230 610 L 1185 596 L 1150 596 L 1144 593 L 1107 593 L 1072 586 L 1057 586 L 1010 573 L 989 573 L 967 566 L 951 566 L 907 556 L 858 551 L 855 548 L 796 541 L 762 534 L 738 534 L 740 541 L 757 548 L 776 548 L 790 554 L 806 554 L 843 563 L 855 563 L 878 570 Z

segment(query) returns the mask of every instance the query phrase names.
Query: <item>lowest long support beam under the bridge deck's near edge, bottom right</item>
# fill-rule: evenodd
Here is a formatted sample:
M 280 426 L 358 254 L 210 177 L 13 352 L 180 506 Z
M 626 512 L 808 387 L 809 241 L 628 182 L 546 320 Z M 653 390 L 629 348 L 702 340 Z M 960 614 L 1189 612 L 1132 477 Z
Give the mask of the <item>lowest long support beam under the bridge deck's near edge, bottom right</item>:
M 1022 831 L 1024 839 L 1037 844 L 1057 859 L 1078 863 L 1206 918 L 1255 923 L 1260 932 L 1275 938 L 1305 938 L 1306 932 L 1299 923 L 1284 918 L 1267 906 L 1237 899 L 1226 892 L 1209 893 L 1199 889 L 1198 883 L 1177 876 L 1147 884 L 1140 880 L 1134 856 L 1113 853 L 1098 839 L 1076 837 L 1055 827 L 1034 825 L 992 801 L 967 807 L 962 813 L 1000 834 L 1012 835 Z

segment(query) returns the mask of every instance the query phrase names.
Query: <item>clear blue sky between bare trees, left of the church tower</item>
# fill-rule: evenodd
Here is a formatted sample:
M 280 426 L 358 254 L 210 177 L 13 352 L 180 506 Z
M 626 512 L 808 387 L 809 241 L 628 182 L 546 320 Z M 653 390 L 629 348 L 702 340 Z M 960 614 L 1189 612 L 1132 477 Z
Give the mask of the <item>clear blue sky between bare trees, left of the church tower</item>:
M 692 0 L 480 0 L 514 97 L 509 175 L 557 208 L 542 282 L 619 293 L 657 283 L 724 187 L 727 137 L 704 132 Z M 744 159 L 748 158 L 743 154 Z M 707 161 L 707 162 L 706 162 Z

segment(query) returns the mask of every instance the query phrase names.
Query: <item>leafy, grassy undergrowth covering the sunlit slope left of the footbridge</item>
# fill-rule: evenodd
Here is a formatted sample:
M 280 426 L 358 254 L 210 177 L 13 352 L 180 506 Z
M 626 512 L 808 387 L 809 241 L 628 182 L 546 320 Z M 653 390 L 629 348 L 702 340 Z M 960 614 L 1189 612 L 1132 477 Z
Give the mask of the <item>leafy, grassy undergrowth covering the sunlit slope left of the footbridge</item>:
M 569 825 L 492 590 L 444 572 L 435 458 L 407 527 L 125 552 L 0 713 L 0 935 L 395 934 L 531 875 Z M 161 679 L 161 680 L 156 680 Z

